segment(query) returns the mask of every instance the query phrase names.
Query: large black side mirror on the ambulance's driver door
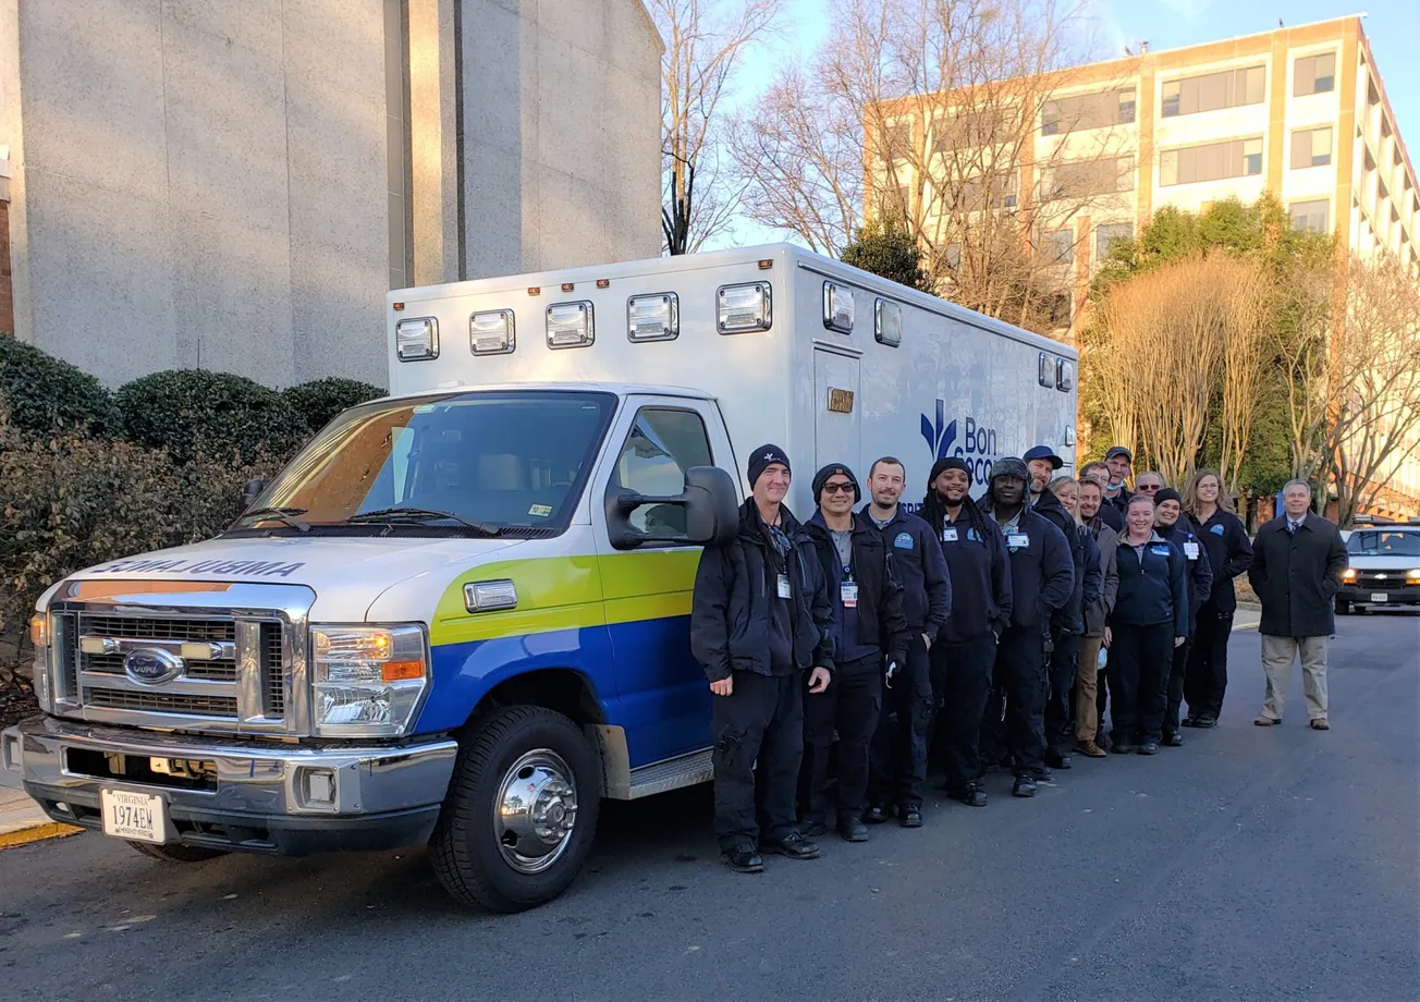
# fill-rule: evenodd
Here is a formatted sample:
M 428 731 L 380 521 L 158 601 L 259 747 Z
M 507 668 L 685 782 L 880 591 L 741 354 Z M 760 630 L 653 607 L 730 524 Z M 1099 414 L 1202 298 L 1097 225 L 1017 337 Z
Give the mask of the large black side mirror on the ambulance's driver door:
M 632 514 L 650 508 L 632 522 Z M 653 522 L 663 527 L 652 528 Z M 734 478 L 720 467 L 686 470 L 686 488 L 670 497 L 650 497 L 616 484 L 606 487 L 606 529 L 616 549 L 635 549 L 648 542 L 683 546 L 724 545 L 740 531 L 740 494 Z

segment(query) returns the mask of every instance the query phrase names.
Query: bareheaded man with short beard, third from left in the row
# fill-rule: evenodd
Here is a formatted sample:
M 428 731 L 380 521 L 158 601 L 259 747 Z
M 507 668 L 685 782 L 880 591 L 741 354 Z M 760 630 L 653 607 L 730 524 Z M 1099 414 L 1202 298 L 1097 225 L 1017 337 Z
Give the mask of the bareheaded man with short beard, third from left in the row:
M 927 524 L 902 510 L 906 473 L 890 456 L 868 471 L 872 501 L 863 514 L 883 535 L 902 580 L 902 610 L 912 639 L 907 663 L 885 680 L 883 708 L 868 778 L 868 813 L 880 825 L 892 808 L 903 827 L 922 827 L 922 788 L 927 779 L 927 734 L 932 728 L 932 668 L 927 651 L 951 613 L 951 580 L 941 544 Z

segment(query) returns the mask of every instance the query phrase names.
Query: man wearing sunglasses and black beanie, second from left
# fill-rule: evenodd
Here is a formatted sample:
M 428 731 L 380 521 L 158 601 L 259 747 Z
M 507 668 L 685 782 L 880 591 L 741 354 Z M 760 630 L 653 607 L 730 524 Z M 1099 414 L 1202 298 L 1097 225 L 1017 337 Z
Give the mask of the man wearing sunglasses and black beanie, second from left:
M 805 812 L 802 832 L 814 837 L 835 825 L 848 842 L 866 842 L 868 749 L 878 728 L 883 673 L 907 659 L 907 619 L 902 583 L 882 534 L 866 515 L 853 514 L 858 478 L 842 464 L 814 474 L 818 511 L 808 535 L 828 582 L 834 607 L 834 678 L 822 693 L 804 700 Z M 836 803 L 828 759 L 838 734 Z

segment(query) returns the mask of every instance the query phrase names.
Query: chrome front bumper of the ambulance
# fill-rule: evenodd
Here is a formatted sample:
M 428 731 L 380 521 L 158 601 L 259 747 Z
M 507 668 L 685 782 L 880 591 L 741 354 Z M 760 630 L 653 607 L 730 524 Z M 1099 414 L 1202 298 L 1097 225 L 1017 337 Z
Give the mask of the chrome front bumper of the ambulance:
M 21 773 L 57 822 L 102 830 L 101 789 L 156 793 L 169 843 L 305 856 L 427 840 L 457 748 L 224 741 L 34 717 L 0 737 L 0 768 Z M 169 762 L 199 768 L 175 776 Z

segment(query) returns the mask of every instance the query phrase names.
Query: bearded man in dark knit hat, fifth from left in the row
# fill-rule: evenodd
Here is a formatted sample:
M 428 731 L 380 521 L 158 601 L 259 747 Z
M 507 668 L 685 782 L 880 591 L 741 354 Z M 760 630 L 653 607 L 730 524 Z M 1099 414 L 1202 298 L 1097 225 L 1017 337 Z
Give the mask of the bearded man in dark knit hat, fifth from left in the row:
M 1035 781 L 1045 776 L 1045 642 L 1051 616 L 1075 589 L 1069 544 L 1025 504 L 1028 481 L 1025 463 L 1007 456 L 991 466 L 991 485 L 981 500 L 1005 536 L 1012 598 L 1011 623 L 995 656 L 995 693 L 981 724 L 981 758 L 995 762 L 1007 745 L 1014 796 L 1035 796 Z

